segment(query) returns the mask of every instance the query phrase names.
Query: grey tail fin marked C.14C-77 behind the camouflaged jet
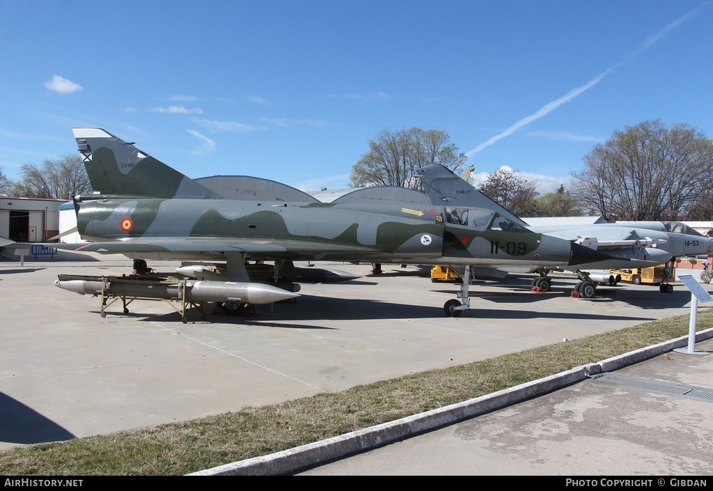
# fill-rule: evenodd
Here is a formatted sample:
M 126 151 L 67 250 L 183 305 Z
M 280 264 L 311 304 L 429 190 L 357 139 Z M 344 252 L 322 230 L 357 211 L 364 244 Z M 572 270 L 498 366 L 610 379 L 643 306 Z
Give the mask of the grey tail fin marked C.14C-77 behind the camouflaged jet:
M 468 208 L 488 208 L 498 215 L 510 218 L 520 226 L 528 227 L 518 216 L 513 215 L 463 178 L 436 164 L 419 169 L 419 179 L 431 203 L 441 206 L 467 206 Z

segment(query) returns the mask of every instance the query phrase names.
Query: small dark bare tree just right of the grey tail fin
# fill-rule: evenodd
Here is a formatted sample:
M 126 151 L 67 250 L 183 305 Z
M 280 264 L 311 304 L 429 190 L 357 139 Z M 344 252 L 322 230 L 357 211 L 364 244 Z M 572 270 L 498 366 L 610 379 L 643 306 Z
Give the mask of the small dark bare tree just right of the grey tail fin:
M 483 194 L 515 216 L 533 216 L 537 211 L 537 181 L 528 181 L 516 171 L 500 168 L 481 186 Z

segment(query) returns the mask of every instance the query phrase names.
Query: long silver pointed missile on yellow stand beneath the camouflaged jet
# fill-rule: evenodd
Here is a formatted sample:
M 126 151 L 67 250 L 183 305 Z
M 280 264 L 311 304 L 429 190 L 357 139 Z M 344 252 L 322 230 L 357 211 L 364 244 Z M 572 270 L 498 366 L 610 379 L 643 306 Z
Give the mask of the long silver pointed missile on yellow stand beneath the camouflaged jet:
M 158 298 L 188 302 L 229 302 L 260 305 L 299 297 L 282 288 L 263 283 L 186 281 L 185 283 L 56 280 L 55 286 L 80 295 L 112 295 L 126 298 Z M 184 289 L 185 285 L 185 289 Z M 185 298 L 183 297 L 185 291 Z

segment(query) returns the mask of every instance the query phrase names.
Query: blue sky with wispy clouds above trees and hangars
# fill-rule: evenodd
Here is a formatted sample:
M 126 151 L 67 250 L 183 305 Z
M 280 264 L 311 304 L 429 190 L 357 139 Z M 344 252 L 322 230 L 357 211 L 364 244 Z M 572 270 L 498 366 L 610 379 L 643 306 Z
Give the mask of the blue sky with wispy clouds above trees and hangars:
M 713 1 L 0 0 L 0 46 L 13 179 L 81 126 L 304 191 L 347 187 L 384 128 L 446 131 L 541 193 L 626 126 L 713 138 Z

